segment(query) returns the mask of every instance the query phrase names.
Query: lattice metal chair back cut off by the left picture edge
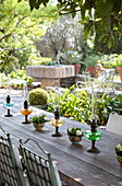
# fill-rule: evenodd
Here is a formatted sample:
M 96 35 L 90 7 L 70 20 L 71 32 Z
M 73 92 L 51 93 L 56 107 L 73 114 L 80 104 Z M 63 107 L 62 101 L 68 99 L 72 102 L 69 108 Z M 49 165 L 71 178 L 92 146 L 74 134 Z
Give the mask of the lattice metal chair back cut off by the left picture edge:
M 3 185 L 25 186 L 19 151 L 12 146 L 9 133 L 7 138 L 0 136 L 0 186 Z

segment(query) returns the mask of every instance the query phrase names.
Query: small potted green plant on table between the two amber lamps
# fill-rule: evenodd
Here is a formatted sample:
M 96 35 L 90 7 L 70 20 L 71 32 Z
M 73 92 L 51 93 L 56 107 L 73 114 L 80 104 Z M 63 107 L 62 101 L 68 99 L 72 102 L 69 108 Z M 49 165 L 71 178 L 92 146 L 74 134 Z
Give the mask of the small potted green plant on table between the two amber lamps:
M 34 124 L 34 127 L 36 128 L 36 130 L 41 130 L 45 126 L 45 123 L 49 121 L 46 118 L 46 115 L 41 115 L 41 116 L 33 116 L 30 117 L 30 121 Z

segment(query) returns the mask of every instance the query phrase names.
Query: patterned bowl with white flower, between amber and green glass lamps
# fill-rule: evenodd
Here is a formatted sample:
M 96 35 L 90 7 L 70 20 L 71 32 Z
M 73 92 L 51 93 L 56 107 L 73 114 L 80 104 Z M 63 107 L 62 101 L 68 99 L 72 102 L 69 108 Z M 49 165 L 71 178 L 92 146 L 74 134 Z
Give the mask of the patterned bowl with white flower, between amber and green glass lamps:
M 80 143 L 84 137 L 84 131 L 76 127 L 68 129 L 69 139 L 72 143 Z

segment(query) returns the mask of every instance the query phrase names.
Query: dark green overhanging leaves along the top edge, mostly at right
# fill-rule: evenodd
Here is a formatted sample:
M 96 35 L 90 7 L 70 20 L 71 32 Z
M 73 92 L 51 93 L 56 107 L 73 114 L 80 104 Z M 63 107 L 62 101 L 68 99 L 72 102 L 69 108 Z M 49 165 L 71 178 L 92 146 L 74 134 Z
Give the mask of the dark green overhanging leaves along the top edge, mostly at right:
M 50 0 L 51 1 L 51 0 Z M 29 0 L 30 10 L 47 5 L 49 0 Z M 122 0 L 58 0 L 60 15 L 81 13 L 80 23 L 84 24 L 84 37 L 99 35 L 99 40 L 108 47 L 115 45 L 114 32 L 122 38 Z

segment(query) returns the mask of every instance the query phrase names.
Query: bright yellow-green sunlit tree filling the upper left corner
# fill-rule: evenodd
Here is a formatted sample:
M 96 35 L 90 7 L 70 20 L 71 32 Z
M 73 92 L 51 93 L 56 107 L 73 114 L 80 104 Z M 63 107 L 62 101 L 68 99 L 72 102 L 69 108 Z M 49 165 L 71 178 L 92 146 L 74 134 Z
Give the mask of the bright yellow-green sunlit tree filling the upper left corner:
M 56 19 L 54 7 L 30 12 L 26 1 L 3 0 L 0 5 L 0 72 L 26 67 L 34 43 Z M 34 53 L 33 53 L 34 51 Z M 34 54 L 36 55 L 36 53 Z

